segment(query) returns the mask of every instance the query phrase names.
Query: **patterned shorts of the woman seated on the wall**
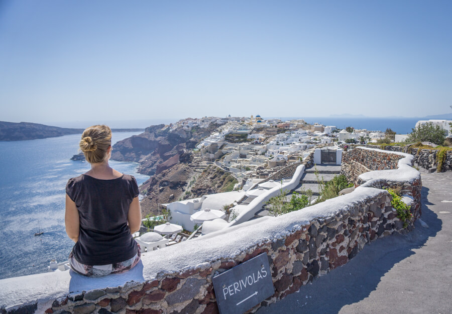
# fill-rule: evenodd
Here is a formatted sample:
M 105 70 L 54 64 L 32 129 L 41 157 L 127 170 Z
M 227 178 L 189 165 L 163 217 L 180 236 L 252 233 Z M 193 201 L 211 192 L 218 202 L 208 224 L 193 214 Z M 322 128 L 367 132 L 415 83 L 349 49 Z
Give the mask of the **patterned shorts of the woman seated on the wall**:
M 138 243 L 137 243 L 138 244 Z M 78 274 L 89 276 L 89 277 L 102 277 L 106 276 L 110 273 L 122 273 L 126 272 L 129 269 L 132 269 L 141 258 L 141 248 L 138 244 L 138 252 L 135 254 L 134 257 L 114 264 L 108 264 L 108 265 L 85 265 L 80 262 L 78 262 L 74 255 L 72 254 L 72 251 L 69 254 L 69 266 L 73 271 L 75 271 Z

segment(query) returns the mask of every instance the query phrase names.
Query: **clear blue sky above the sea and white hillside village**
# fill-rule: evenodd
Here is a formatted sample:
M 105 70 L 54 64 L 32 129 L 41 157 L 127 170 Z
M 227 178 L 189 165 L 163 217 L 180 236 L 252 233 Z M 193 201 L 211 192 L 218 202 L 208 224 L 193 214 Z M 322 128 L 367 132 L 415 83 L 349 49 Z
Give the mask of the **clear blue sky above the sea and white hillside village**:
M 0 0 L 0 120 L 426 116 L 451 1 Z

